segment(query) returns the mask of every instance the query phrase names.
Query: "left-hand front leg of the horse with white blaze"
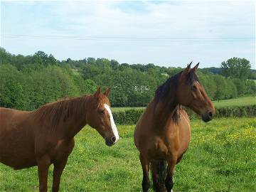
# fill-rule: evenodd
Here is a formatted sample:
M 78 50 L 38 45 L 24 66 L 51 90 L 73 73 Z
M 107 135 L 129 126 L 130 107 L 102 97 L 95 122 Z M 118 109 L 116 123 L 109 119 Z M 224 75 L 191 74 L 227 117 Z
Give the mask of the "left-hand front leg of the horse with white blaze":
M 37 164 L 39 177 L 39 191 L 46 192 L 50 159 L 48 158 L 48 156 L 42 156 L 41 158 L 37 159 Z

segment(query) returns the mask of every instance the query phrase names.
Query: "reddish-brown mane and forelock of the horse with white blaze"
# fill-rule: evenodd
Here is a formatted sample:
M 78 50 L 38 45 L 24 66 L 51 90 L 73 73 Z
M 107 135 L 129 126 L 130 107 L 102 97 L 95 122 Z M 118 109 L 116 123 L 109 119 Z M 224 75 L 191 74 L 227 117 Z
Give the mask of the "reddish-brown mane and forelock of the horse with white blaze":
M 84 95 L 82 97 L 65 98 L 57 102 L 50 102 L 33 111 L 33 117 L 43 123 L 50 124 L 52 127 L 65 122 L 71 116 L 85 116 L 87 100 L 93 95 Z M 98 96 L 98 105 L 106 103 L 110 105 L 105 95 Z M 97 106 L 95 106 L 97 107 Z

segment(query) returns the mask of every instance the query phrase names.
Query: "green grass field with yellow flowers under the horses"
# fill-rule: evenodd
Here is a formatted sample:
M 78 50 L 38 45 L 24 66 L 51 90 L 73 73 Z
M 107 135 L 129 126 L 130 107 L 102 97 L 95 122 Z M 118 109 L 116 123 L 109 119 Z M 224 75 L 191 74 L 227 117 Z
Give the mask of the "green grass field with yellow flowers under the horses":
M 256 119 L 191 124 L 191 145 L 176 166 L 174 191 L 255 191 Z M 121 139 L 112 147 L 94 129 L 82 129 L 75 137 L 60 191 L 141 191 L 134 125 L 117 128 Z M 53 167 L 50 182 L 52 175 Z M 36 167 L 14 171 L 0 164 L 0 191 L 38 191 Z

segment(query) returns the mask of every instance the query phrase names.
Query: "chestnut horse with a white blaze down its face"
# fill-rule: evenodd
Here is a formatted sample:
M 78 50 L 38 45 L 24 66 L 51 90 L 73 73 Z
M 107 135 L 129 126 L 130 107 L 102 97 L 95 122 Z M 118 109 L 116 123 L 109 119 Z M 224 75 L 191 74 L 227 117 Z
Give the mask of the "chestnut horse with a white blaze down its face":
M 85 124 L 95 128 L 112 146 L 119 139 L 114 124 L 110 88 L 49 103 L 32 112 L 0 108 L 0 162 L 14 169 L 38 166 L 39 191 L 48 190 L 48 169 L 53 169 L 52 191 L 59 191 L 60 176 Z M 0 181 L 1 182 L 1 181 Z

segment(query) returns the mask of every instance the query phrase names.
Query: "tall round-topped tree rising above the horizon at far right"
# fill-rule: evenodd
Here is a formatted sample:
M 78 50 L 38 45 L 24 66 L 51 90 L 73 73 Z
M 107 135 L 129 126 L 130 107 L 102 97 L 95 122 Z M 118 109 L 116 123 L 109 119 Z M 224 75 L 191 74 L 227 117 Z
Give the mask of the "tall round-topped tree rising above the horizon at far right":
M 250 76 L 250 61 L 245 58 L 230 58 L 221 63 L 223 75 L 226 78 L 246 80 Z

